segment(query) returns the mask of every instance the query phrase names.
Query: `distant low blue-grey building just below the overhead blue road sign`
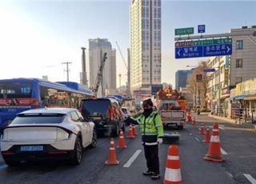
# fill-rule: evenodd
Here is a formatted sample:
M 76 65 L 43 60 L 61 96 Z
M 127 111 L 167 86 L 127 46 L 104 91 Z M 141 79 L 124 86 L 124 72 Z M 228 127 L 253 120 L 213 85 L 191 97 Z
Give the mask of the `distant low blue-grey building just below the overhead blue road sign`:
M 192 70 L 178 70 L 175 73 L 175 89 L 179 90 L 180 87 L 186 87 L 187 79 L 190 78 Z

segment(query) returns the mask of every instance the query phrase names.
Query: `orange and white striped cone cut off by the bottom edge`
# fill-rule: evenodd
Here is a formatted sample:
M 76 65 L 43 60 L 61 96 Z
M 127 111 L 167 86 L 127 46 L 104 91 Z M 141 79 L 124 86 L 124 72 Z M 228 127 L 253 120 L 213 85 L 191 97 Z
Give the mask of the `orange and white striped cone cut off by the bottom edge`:
M 166 172 L 163 184 L 181 184 L 182 174 L 179 165 L 178 146 L 169 146 Z

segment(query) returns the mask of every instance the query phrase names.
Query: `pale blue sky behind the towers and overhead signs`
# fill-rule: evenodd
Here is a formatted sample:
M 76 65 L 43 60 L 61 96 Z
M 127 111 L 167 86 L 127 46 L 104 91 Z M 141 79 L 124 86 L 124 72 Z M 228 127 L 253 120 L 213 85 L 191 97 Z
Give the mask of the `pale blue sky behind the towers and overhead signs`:
M 206 34 L 226 33 L 256 25 L 255 11 L 253 1 L 162 0 L 162 82 L 174 85 L 177 70 L 203 59 L 174 58 L 175 28 L 194 26 L 196 31 L 199 24 L 206 24 Z M 125 58 L 130 46 L 129 0 L 0 0 L 0 22 L 0 78 L 48 75 L 51 81 L 64 81 L 61 63 L 72 62 L 70 80 L 78 82 L 80 47 L 88 47 L 89 38 L 108 38 L 114 48 L 117 41 Z M 118 50 L 117 67 L 125 84 L 126 69 Z

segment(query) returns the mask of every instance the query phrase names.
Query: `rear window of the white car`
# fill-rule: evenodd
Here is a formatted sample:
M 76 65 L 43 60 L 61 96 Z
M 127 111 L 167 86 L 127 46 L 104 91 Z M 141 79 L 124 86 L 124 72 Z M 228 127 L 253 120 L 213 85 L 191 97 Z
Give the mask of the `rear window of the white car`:
M 58 124 L 65 114 L 18 114 L 11 124 Z

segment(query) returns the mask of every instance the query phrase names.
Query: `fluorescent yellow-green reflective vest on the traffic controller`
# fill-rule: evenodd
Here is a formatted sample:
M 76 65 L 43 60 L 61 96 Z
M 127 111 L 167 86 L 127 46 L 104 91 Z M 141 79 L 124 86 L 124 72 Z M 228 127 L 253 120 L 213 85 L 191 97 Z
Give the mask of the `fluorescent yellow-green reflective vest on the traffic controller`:
M 142 142 L 157 142 L 158 138 L 163 137 L 161 116 L 153 111 L 147 118 L 141 114 L 138 118 L 142 133 Z

